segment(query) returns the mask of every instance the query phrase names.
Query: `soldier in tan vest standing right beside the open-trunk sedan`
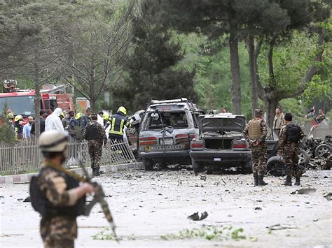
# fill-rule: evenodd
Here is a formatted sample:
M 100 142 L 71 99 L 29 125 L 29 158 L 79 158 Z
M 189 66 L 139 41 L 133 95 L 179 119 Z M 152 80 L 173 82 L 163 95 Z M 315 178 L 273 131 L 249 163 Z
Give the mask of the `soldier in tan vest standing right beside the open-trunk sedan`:
M 265 174 L 266 152 L 268 148 L 265 144 L 265 138 L 268 134 L 268 126 L 263 120 L 263 110 L 255 110 L 255 117 L 248 122 L 243 134 L 251 147 L 254 185 L 267 185 L 267 183 L 264 182 L 263 177 Z

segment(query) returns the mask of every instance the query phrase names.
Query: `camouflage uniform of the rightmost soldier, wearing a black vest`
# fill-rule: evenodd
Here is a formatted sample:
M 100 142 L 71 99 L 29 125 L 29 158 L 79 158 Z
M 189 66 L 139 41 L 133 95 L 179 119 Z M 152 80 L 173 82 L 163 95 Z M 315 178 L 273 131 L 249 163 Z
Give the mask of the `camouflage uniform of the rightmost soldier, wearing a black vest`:
M 300 177 L 301 170 L 298 168 L 298 153 L 300 152 L 300 147 L 298 142 L 291 142 L 287 140 L 287 127 L 291 124 L 289 122 L 282 129 L 282 133 L 280 133 L 280 140 L 278 143 L 279 154 L 281 154 L 286 163 L 286 176 L 291 177 Z M 304 137 L 303 130 L 298 126 L 299 129 L 299 140 Z

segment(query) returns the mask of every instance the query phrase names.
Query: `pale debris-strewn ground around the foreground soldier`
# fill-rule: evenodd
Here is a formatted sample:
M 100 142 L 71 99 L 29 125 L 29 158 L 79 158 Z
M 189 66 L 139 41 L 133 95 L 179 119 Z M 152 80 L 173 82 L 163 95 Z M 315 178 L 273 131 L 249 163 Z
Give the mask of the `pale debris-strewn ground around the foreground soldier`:
M 283 177 L 265 177 L 267 187 L 254 187 L 252 175 L 236 173 L 206 175 L 206 180 L 185 169 L 102 175 L 97 182 L 122 240 L 92 238 L 97 233 L 112 238 L 98 205 L 90 217 L 78 218 L 76 247 L 331 247 L 332 201 L 323 197 L 332 192 L 331 178 L 331 170 L 308 171 L 301 187 L 281 186 Z M 42 247 L 39 214 L 22 202 L 28 187 L 0 187 L 0 247 Z M 317 191 L 291 194 L 307 187 Z M 207 219 L 187 218 L 204 211 Z M 267 228 L 275 224 L 286 229 Z

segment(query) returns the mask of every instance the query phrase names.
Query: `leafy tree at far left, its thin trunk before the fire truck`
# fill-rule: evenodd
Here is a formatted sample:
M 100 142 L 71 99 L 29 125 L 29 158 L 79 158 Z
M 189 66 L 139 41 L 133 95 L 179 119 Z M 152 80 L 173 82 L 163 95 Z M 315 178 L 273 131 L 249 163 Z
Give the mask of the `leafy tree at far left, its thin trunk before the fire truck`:
M 61 27 L 70 12 L 66 4 L 54 1 L 34 1 L 13 3 L 2 12 L 1 37 L 6 44 L 15 44 L 11 52 L 2 56 L 1 72 L 6 78 L 27 78 L 34 81 L 34 111 L 36 135 L 39 136 L 40 89 L 42 85 L 57 77 L 56 62 L 64 55 L 59 43 L 55 42 L 55 33 Z

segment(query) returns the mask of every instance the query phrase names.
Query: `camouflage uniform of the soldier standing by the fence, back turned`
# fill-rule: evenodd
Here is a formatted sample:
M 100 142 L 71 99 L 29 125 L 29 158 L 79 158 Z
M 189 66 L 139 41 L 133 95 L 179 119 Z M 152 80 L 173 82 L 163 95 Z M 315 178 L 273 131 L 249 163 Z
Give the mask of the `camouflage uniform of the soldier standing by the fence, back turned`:
M 96 121 L 92 121 L 89 125 L 97 125 L 97 131 L 98 131 L 98 139 L 95 140 L 88 140 L 88 146 L 89 146 L 89 155 L 91 159 L 91 168 L 100 168 L 100 161 L 102 159 L 102 145 L 106 145 L 107 143 L 107 137 L 104 128 L 102 125 L 97 123 Z M 87 126 L 87 127 L 88 127 Z M 83 138 L 87 138 L 88 134 L 88 128 L 85 127 L 83 131 Z

